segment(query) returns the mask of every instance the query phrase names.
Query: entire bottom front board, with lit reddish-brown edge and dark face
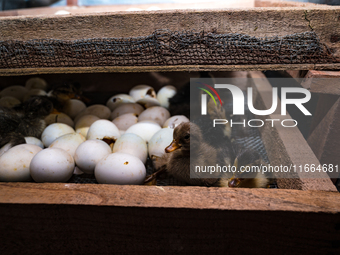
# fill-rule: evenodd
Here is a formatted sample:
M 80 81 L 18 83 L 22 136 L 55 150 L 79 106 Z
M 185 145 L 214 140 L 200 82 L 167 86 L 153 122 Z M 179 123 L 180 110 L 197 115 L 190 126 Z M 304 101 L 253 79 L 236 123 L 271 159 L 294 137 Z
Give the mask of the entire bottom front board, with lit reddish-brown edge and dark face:
M 0 252 L 338 254 L 339 198 L 320 191 L 1 183 Z

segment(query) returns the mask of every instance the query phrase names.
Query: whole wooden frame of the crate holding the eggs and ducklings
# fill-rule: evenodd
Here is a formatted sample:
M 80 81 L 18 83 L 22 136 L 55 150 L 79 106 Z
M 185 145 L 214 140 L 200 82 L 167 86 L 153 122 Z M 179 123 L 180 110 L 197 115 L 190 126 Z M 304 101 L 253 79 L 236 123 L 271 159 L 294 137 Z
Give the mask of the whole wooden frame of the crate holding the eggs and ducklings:
M 339 7 L 254 3 L 259 7 L 3 17 L 1 40 L 143 36 L 165 26 L 173 30 L 216 28 L 221 33 L 261 37 L 313 30 L 335 55 L 340 54 L 340 42 L 334 42 L 333 36 L 340 26 Z M 286 7 L 278 7 L 282 5 Z M 125 72 L 126 76 L 144 77 L 144 72 L 334 70 L 339 66 L 340 63 L 16 68 L 0 69 L 0 78 L 5 86 L 26 79 L 23 75 L 81 77 L 84 73 L 85 77 L 103 75 L 109 84 L 110 78 Z M 263 77 L 260 72 L 247 75 Z M 104 92 L 103 87 L 96 89 Z M 253 88 L 256 107 L 268 109 L 269 83 L 255 82 Z M 275 113 L 268 117 L 281 118 Z M 319 163 L 297 128 L 287 132 L 274 126 L 261 129 L 261 135 L 268 157 L 275 164 L 299 164 L 301 151 L 304 160 L 307 157 L 311 163 Z M 330 179 L 301 175 L 280 179 L 278 186 L 279 189 L 229 189 L 0 183 L 0 253 L 338 253 L 340 194 Z

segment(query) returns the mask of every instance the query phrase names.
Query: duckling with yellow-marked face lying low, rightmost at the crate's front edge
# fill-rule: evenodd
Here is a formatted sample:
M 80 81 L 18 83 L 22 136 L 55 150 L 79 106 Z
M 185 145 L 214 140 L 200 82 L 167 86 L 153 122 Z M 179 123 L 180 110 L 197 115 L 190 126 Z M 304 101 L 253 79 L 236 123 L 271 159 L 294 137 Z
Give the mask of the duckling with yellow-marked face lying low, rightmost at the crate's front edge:
M 218 182 L 218 186 L 231 187 L 231 188 L 268 188 L 270 184 L 273 184 L 275 179 L 272 173 L 262 173 L 262 166 L 268 164 L 261 158 L 261 156 L 253 150 L 241 151 L 235 161 L 234 166 L 236 172 L 231 178 L 221 178 Z M 253 167 L 260 171 L 246 172 L 246 167 Z

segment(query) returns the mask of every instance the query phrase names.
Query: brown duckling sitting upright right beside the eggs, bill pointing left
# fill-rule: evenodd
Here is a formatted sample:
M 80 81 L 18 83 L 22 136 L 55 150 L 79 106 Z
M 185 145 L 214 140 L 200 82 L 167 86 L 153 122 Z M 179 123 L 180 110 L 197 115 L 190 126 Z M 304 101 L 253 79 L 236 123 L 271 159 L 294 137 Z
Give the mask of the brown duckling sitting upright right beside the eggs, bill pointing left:
M 165 149 L 167 154 L 156 160 L 155 168 L 161 172 L 166 171 L 179 181 L 190 185 L 216 185 L 220 173 L 204 173 L 202 178 L 202 173 L 196 173 L 195 167 L 215 166 L 217 162 L 229 165 L 233 161 L 233 156 L 230 155 L 233 154 L 232 151 L 221 150 L 207 143 L 200 127 L 195 123 L 181 123 L 175 128 L 173 137 L 174 140 Z

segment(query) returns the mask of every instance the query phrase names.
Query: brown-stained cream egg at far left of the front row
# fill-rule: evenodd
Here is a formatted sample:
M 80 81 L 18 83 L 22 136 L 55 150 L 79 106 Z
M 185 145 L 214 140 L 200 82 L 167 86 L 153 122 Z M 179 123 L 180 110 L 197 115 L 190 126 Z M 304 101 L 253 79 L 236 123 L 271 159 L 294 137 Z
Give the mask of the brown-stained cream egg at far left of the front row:
M 30 163 L 34 155 L 42 149 L 32 144 L 20 144 L 12 147 L 0 157 L 0 181 L 30 181 Z

